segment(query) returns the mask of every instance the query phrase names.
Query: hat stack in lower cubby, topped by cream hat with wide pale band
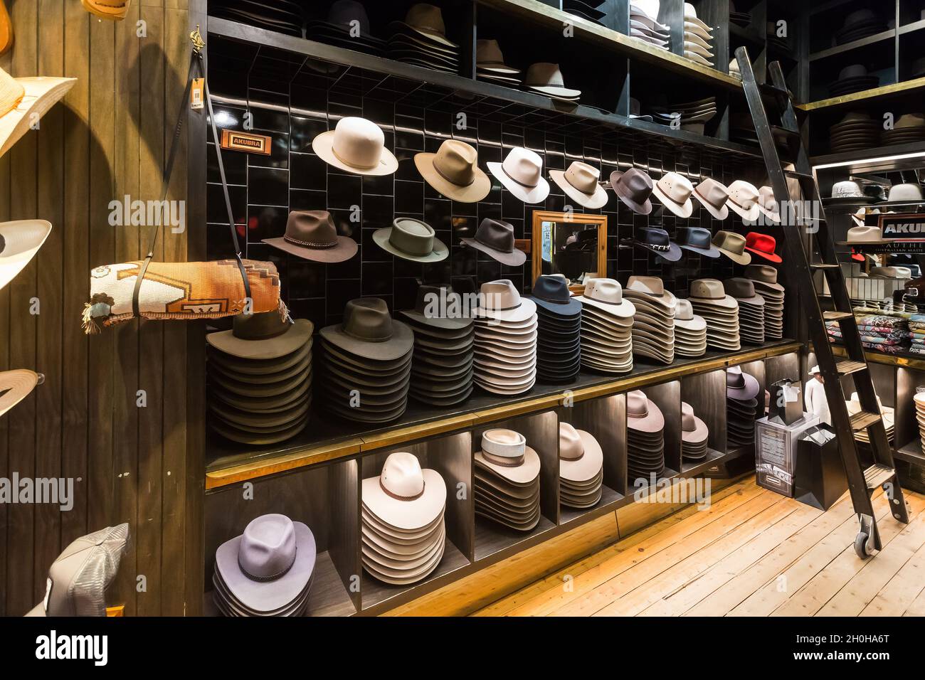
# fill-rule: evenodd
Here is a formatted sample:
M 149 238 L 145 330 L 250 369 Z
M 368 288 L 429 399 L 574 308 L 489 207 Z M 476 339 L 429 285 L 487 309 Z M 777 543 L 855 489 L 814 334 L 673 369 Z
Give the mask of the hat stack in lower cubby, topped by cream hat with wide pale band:
M 475 514 L 517 531 L 539 524 L 539 456 L 524 435 L 489 429 L 475 453 Z

